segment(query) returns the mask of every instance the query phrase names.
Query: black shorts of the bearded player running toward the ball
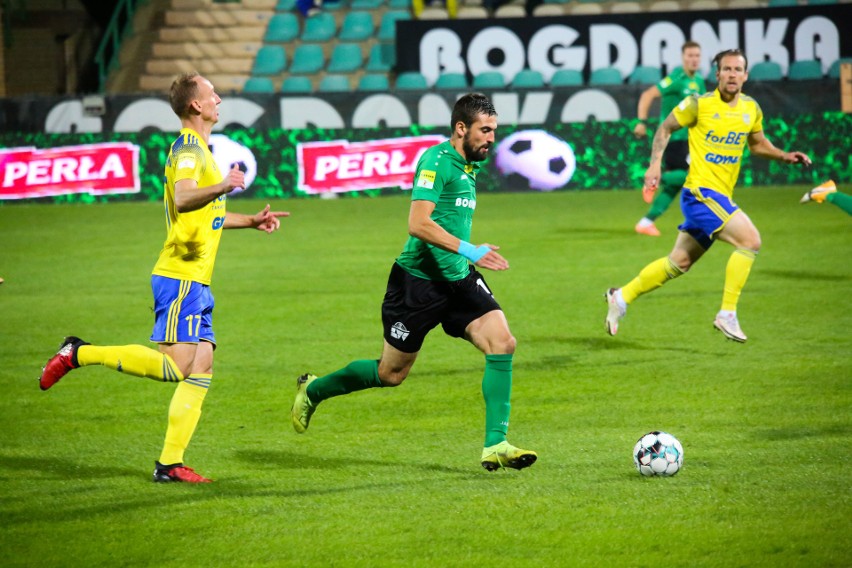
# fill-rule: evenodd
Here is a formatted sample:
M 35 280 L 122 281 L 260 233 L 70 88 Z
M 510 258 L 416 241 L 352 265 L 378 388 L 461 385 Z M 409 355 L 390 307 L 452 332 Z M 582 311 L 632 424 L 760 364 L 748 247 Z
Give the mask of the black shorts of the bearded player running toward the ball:
M 420 351 L 426 335 L 439 323 L 451 337 L 464 337 L 470 322 L 500 304 L 473 266 L 455 282 L 418 278 L 394 263 L 382 302 L 385 340 L 404 353 Z

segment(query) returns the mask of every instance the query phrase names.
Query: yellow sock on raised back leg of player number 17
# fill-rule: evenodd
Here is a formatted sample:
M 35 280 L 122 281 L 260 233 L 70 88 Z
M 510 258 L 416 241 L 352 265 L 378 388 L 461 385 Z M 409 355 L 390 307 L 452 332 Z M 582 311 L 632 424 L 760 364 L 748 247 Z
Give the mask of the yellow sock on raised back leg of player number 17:
M 128 375 L 157 381 L 173 383 L 183 380 L 183 373 L 171 357 L 143 345 L 82 345 L 77 350 L 77 362 L 81 367 L 103 365 Z

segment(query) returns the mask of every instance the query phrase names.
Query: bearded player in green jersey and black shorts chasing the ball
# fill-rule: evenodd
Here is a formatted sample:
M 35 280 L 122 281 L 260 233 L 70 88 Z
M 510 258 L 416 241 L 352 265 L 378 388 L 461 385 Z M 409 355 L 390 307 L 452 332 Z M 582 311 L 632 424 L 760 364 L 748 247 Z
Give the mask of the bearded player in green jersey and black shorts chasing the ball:
M 453 107 L 452 136 L 427 150 L 417 163 L 409 238 L 391 268 L 382 304 L 381 359 L 362 359 L 323 377 L 297 380 L 291 418 L 296 432 L 308 428 L 317 405 L 334 396 L 398 386 L 408 376 L 423 340 L 438 324 L 447 335 L 466 339 L 485 355 L 485 443 L 482 466 L 523 469 L 535 452 L 506 441 L 515 338 L 506 316 L 474 266 L 507 270 L 509 263 L 490 244 L 470 239 L 476 209 L 476 175 L 494 144 L 497 112 L 487 97 L 469 93 Z

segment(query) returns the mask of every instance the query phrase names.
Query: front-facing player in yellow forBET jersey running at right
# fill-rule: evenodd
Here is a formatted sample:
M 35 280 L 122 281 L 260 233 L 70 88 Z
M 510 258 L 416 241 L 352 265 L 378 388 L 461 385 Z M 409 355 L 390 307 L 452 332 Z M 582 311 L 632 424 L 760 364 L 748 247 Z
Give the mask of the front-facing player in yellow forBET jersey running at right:
M 748 79 L 748 61 L 738 49 L 716 55 L 718 87 L 712 93 L 685 98 L 657 129 L 651 163 L 645 172 L 646 187 L 660 180 L 660 162 L 672 132 L 689 128 L 689 173 L 681 190 L 684 223 L 668 256 L 655 260 L 622 288 L 610 288 L 606 330 L 618 332 L 627 306 L 684 274 L 716 240 L 734 247 L 725 270 L 722 307 L 713 325 L 725 337 L 745 342 L 737 319 L 737 301 L 760 250 L 760 233 L 748 215 L 733 201 L 740 160 L 749 151 L 788 164 L 811 163 L 801 152 L 784 152 L 763 134 L 763 113 L 757 101 L 742 93 Z

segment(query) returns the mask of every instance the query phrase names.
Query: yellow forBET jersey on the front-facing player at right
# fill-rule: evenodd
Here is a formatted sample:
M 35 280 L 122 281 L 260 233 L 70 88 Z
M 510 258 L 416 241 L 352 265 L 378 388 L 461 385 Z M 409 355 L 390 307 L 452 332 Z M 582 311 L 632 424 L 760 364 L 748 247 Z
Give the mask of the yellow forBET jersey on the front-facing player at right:
M 731 106 L 716 89 L 683 99 L 672 114 L 681 126 L 689 127 L 689 174 L 684 185 L 733 197 L 748 136 L 763 130 L 760 105 L 740 93 Z

